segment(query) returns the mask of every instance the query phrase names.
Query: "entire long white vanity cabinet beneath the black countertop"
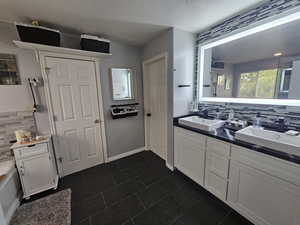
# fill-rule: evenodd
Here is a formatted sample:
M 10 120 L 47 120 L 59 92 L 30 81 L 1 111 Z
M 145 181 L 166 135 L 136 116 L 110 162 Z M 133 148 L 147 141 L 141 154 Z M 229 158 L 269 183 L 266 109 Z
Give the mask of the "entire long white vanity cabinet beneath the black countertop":
M 300 165 L 179 127 L 174 151 L 178 170 L 255 225 L 300 225 Z

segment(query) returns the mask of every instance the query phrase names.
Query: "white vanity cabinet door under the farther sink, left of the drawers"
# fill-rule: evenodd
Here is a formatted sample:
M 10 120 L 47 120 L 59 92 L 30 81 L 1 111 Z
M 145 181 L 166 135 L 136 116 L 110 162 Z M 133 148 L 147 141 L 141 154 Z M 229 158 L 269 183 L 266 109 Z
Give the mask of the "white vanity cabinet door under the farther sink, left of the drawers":
M 194 132 L 175 129 L 175 167 L 203 185 L 206 138 Z

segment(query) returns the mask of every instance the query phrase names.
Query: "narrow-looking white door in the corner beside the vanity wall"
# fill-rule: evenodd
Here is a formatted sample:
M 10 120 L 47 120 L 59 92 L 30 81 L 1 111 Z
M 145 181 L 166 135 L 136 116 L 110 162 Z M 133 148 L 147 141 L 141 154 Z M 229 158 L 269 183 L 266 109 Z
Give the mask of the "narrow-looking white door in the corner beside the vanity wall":
M 167 83 L 166 56 L 144 62 L 144 102 L 147 149 L 166 159 Z

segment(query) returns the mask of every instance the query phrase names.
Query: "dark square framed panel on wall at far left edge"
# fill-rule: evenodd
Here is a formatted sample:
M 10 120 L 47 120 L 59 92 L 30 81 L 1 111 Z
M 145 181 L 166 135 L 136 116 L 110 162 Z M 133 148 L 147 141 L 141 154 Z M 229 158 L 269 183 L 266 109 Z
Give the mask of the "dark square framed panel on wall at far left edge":
M 16 56 L 0 53 L 0 85 L 18 84 L 21 84 L 21 79 Z

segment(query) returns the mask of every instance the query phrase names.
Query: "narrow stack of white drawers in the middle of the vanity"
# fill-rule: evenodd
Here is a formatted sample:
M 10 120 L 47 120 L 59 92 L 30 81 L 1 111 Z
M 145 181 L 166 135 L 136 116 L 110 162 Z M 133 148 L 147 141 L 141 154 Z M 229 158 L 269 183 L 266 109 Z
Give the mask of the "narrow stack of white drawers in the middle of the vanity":
M 207 138 L 204 186 L 222 200 L 227 194 L 229 156 L 229 143 Z

